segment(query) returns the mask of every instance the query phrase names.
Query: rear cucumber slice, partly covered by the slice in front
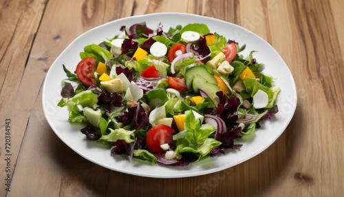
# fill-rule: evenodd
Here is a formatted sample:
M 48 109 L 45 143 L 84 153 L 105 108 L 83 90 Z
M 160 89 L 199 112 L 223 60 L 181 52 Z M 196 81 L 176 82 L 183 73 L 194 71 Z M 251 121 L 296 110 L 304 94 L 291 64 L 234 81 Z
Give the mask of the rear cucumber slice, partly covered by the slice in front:
M 204 78 L 208 83 L 216 84 L 215 78 L 211 72 L 208 71 L 206 68 L 206 65 L 204 64 L 191 64 L 186 67 L 185 70 L 185 85 L 188 89 L 191 89 L 193 85 L 193 79 L 195 78 L 195 75 L 199 74 Z

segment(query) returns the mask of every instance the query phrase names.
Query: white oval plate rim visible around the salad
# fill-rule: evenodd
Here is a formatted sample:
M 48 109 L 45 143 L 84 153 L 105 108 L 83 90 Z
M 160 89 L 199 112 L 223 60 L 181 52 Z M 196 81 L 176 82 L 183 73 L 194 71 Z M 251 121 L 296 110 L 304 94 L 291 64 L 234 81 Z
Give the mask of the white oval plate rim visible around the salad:
M 134 159 L 131 163 L 123 156 L 111 156 L 110 150 L 100 143 L 89 142 L 80 133 L 82 125 L 71 124 L 68 122 L 67 109 L 56 107 L 60 101 L 61 81 L 66 78 L 62 65 L 68 70 L 74 71 L 76 64 L 80 61 L 79 52 L 83 51 L 85 45 L 100 43 L 106 38 L 120 34 L 120 27 L 133 23 L 147 22 L 149 28 L 155 28 L 160 22 L 164 25 L 164 30 L 176 25 L 186 25 L 188 23 L 205 23 L 211 32 L 217 32 L 226 37 L 239 42 L 240 45 L 246 44 L 244 54 L 251 50 L 257 50 L 255 58 L 259 63 L 265 63 L 265 74 L 274 76 L 275 85 L 281 87 L 281 92 L 277 99 L 279 113 L 266 121 L 263 127 L 257 129 L 255 134 L 242 138 L 237 143 L 243 144 L 240 150 L 227 149 L 226 154 L 215 158 L 206 158 L 198 163 L 191 163 L 184 167 L 168 167 L 162 165 L 150 165 L 141 160 Z M 98 165 L 126 174 L 137 176 L 147 176 L 155 178 L 179 178 L 200 176 L 218 172 L 228 167 L 233 167 L 239 163 L 257 156 L 268 148 L 283 133 L 290 123 L 297 105 L 297 91 L 294 79 L 288 66 L 281 59 L 281 56 L 270 44 L 261 39 L 256 34 L 241 28 L 233 23 L 220 21 L 209 17 L 202 17 L 195 14 L 182 13 L 158 13 L 142 16 L 118 19 L 100 25 L 89 30 L 76 38 L 58 56 L 52 67 L 47 72 L 43 87 L 43 110 L 47 122 L 50 124 L 56 135 L 75 152 L 87 160 Z

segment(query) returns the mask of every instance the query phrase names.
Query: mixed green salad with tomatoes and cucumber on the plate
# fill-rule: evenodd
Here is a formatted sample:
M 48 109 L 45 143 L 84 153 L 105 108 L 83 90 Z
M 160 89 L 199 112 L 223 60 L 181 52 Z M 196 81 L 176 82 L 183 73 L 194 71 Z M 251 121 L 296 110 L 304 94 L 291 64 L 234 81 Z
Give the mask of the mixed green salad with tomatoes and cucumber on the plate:
M 68 120 L 112 155 L 189 165 L 239 149 L 278 112 L 280 87 L 246 45 L 203 23 L 162 29 L 136 23 L 85 46 L 61 82 Z

